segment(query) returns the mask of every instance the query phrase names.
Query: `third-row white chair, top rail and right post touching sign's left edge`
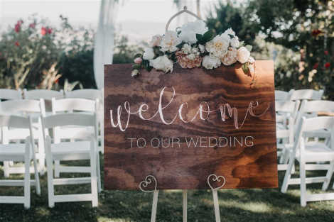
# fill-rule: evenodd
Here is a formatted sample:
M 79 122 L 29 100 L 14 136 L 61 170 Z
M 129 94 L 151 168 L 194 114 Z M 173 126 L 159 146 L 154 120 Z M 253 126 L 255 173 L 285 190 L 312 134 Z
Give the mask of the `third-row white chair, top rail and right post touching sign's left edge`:
M 103 110 L 103 91 L 100 89 L 77 89 L 73 91 L 65 91 L 65 98 L 80 98 L 80 99 L 99 99 L 97 106 L 97 119 L 99 120 L 99 152 L 104 153 L 104 110 Z

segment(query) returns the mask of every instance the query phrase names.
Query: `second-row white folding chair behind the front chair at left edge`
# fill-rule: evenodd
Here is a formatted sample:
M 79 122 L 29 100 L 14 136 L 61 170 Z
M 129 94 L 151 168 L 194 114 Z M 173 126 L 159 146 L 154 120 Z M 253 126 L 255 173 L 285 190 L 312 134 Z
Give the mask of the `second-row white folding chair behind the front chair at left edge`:
M 20 116 L 31 116 L 33 120 L 33 132 L 36 135 L 38 142 L 38 152 L 36 152 L 36 157 L 38 160 L 38 170 L 41 174 L 45 172 L 45 152 L 44 152 L 44 142 L 43 133 L 41 126 L 41 116 L 45 116 L 45 106 L 43 99 L 29 100 L 29 99 L 18 99 L 18 100 L 7 100 L 0 102 L 0 113 L 6 114 L 16 114 Z M 26 128 L 16 128 L 11 129 L 11 131 L 6 131 L 6 128 L 1 130 L 3 134 L 2 143 L 10 143 L 14 140 L 20 143 L 20 140 L 25 140 L 27 136 L 30 135 L 30 131 Z M 32 172 L 33 168 L 31 168 Z M 9 162 L 4 162 L 4 176 L 9 177 L 10 174 L 21 174 L 24 172 L 24 167 L 14 167 L 9 164 Z

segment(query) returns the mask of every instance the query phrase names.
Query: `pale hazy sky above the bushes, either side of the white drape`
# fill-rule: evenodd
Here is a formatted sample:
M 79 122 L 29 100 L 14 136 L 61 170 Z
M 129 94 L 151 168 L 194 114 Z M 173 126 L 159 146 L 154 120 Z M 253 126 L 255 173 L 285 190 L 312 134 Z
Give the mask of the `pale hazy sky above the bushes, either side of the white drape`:
M 130 40 L 148 40 L 151 35 L 163 34 L 166 23 L 178 11 L 173 0 L 120 0 L 115 18 L 117 33 L 127 35 Z M 195 1 L 183 1 L 195 12 Z M 201 13 L 205 16 L 217 1 L 201 0 Z M 57 26 L 60 14 L 68 17 L 75 26 L 96 28 L 99 19 L 98 0 L 0 0 L 0 30 L 14 26 L 19 18 L 23 20 L 33 14 L 47 18 Z M 193 20 L 183 16 L 171 23 L 171 29 L 182 22 Z

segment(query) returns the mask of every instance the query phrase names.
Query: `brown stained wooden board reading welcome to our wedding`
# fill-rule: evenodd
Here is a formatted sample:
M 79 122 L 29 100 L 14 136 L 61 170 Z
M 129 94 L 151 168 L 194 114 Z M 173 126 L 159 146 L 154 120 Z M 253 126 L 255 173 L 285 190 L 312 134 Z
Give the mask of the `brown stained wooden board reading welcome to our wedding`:
M 277 187 L 274 65 L 142 71 L 104 67 L 104 187 L 156 189 Z

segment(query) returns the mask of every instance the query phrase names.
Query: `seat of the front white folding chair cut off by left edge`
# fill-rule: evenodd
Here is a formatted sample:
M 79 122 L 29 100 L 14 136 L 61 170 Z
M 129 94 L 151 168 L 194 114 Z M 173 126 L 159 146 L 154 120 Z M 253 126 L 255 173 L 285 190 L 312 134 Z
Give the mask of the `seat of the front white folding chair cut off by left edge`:
M 10 143 L 0 145 L 0 160 L 12 160 L 12 161 L 24 161 L 24 155 L 26 154 L 26 144 L 23 143 Z M 32 158 L 32 154 L 30 155 Z

